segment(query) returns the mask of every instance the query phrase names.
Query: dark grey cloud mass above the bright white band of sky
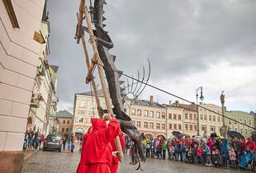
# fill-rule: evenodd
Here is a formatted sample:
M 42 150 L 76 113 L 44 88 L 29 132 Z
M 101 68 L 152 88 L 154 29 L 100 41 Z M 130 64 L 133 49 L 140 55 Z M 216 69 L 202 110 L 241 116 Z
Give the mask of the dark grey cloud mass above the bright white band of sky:
M 73 40 L 79 1 L 53 0 L 50 63 L 59 65 L 59 98 L 89 89 L 83 49 Z M 256 1 L 107 1 L 107 27 L 117 68 L 152 64 L 152 82 L 204 72 L 211 63 L 256 64 Z

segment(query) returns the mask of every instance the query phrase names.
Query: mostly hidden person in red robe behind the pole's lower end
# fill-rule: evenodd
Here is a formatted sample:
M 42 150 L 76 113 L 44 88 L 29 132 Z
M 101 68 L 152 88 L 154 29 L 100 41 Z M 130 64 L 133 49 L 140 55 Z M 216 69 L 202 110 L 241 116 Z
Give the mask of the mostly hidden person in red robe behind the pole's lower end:
M 125 138 L 124 138 L 124 134 L 121 132 L 121 130 L 120 130 L 118 136 L 120 138 L 121 150 L 124 152 Z M 112 149 L 113 149 L 112 151 L 116 152 L 117 148 L 116 148 L 115 140 L 111 141 L 111 146 L 112 146 Z M 118 155 L 118 153 L 117 153 L 117 155 Z M 117 172 L 118 165 L 119 165 L 118 157 L 117 156 L 113 156 L 112 165 L 111 165 L 111 173 L 116 173 Z

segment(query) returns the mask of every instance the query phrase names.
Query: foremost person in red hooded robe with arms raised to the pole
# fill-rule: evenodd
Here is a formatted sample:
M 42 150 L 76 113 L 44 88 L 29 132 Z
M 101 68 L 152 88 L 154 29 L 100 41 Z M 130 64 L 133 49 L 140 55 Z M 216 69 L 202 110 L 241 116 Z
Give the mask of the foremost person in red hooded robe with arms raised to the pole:
M 105 119 L 110 119 L 108 125 L 103 119 L 92 119 L 92 132 L 87 136 L 83 146 L 83 155 L 81 156 L 83 157 L 81 161 L 83 161 L 84 166 L 77 173 L 110 173 L 111 141 L 118 136 L 120 125 L 116 119 L 110 118 L 111 115 L 106 116 L 109 118 Z

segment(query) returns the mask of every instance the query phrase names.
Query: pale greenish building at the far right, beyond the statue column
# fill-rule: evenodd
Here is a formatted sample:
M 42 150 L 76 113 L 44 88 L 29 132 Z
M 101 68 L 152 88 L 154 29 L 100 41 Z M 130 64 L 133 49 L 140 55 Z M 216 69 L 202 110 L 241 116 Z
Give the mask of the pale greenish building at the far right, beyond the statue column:
M 225 116 L 229 117 L 230 119 L 235 119 L 239 121 L 239 123 L 247 124 L 255 128 L 254 115 L 252 114 L 239 110 L 230 110 L 225 111 Z M 230 119 L 225 119 L 225 124 L 228 126 L 229 130 L 235 130 L 241 133 L 245 138 L 248 138 L 253 133 L 254 129 L 250 129 L 247 126 L 236 123 Z

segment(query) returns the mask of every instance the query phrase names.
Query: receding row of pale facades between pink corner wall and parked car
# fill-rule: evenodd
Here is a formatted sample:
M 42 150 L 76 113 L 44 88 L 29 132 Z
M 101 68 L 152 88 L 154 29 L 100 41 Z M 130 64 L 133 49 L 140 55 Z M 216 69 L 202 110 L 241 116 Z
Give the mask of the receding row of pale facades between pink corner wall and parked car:
M 46 5 L 40 23 L 40 54 L 31 98 L 31 107 L 27 121 L 27 129 L 43 133 L 45 136 L 54 131 L 54 116 L 57 110 L 56 96 L 57 72 L 59 67 L 48 63 L 50 55 L 50 22 L 46 13 Z

